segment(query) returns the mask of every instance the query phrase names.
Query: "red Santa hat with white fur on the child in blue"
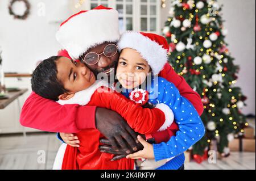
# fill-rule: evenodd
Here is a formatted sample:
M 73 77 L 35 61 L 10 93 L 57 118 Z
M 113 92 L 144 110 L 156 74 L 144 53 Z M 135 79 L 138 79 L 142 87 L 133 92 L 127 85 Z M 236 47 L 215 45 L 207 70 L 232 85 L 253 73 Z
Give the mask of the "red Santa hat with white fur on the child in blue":
M 137 50 L 151 66 L 152 72 L 158 74 L 168 61 L 169 45 L 160 35 L 128 31 L 118 41 L 118 49 L 132 48 Z

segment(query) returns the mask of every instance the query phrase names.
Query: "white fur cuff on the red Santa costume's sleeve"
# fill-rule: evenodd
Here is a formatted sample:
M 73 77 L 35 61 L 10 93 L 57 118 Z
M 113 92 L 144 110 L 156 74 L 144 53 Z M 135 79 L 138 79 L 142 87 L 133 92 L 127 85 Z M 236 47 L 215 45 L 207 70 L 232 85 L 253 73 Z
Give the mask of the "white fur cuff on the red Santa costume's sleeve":
M 174 122 L 174 112 L 172 112 L 170 107 L 168 107 L 166 104 L 163 104 L 163 103 L 156 104 L 155 108 L 158 108 L 159 110 L 163 111 L 164 115 L 166 116 L 166 121 L 164 121 L 164 124 L 158 130 L 158 131 L 164 131 L 168 127 L 170 127 L 170 125 Z

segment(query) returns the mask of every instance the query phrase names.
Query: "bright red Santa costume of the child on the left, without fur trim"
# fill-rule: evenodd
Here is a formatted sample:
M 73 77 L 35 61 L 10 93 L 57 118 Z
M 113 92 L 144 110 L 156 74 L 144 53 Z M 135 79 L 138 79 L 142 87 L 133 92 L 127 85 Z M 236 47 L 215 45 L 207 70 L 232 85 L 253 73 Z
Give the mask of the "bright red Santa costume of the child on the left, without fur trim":
M 122 94 L 113 92 L 107 87 L 93 86 L 96 87 L 96 90 L 92 93 L 86 92 L 85 96 L 82 97 L 89 100 L 87 105 L 96 105 L 118 112 L 130 127 L 139 133 L 146 134 L 158 131 L 166 121 L 164 113 L 158 108 L 142 108 Z M 79 137 L 80 147 L 67 145 L 62 164 L 63 170 L 134 169 L 134 162 L 131 159 L 123 158 L 118 161 L 111 161 L 113 154 L 101 153 L 98 146 L 100 146 L 100 138 L 103 138 L 104 135 L 97 129 L 82 129 L 76 133 L 76 136 Z

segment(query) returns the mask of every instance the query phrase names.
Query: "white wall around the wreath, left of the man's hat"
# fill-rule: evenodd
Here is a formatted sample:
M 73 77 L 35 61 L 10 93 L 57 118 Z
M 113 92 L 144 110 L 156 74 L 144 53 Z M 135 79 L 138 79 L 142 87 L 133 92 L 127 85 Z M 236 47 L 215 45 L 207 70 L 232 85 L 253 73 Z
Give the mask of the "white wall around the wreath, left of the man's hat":
M 3 67 L 5 71 L 28 73 L 35 69 L 37 61 L 56 55 L 61 48 L 55 40 L 60 23 L 49 21 L 55 20 L 51 18 L 53 15 L 61 14 L 60 9 L 67 5 L 67 1 L 30 0 L 31 11 L 26 20 L 14 19 L 9 14 L 9 2 L 0 1 L 0 47 L 3 50 Z M 39 11 L 43 10 L 40 2 L 45 5 L 45 15 Z M 68 9 L 62 10 L 65 16 L 63 18 L 68 18 L 71 14 Z

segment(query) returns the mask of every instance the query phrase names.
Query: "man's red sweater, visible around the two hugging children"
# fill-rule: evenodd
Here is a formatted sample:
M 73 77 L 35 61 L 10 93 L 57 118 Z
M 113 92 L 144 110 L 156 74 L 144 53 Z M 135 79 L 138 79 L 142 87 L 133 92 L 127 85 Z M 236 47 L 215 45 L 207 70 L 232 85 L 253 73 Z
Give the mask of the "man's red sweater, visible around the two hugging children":
M 59 56 L 69 57 L 67 50 L 58 53 Z M 199 115 L 203 113 L 203 103 L 197 92 L 193 91 L 185 79 L 177 75 L 170 64 L 166 64 L 159 74 L 174 83 L 180 94 L 187 98 L 196 108 Z M 81 129 L 96 128 L 95 125 L 96 106 L 79 106 L 78 104 L 64 105 L 55 101 L 42 98 L 32 92 L 27 98 L 20 113 L 20 124 L 24 127 L 40 129 L 48 132 L 77 133 Z M 177 125 L 170 129 L 153 133 L 156 142 L 168 141 L 177 130 Z

